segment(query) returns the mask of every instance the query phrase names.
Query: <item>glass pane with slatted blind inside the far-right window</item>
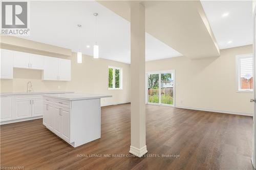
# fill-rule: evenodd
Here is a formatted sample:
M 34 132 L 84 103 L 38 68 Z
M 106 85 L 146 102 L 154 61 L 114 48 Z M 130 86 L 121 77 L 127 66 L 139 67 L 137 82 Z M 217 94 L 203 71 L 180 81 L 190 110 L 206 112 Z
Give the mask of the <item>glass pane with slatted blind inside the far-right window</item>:
M 252 57 L 240 59 L 240 89 L 253 89 L 253 63 Z

